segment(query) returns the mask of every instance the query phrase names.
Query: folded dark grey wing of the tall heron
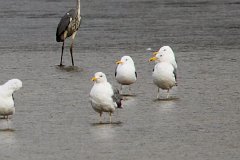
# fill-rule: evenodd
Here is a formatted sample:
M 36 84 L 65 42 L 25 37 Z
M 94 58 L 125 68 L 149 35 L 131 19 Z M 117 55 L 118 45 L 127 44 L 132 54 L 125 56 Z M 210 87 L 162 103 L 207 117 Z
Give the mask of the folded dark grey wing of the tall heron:
M 67 30 L 69 23 L 71 22 L 71 19 L 75 17 L 76 10 L 71 9 L 68 11 L 60 20 L 58 27 L 57 27 L 57 32 L 56 32 L 56 41 L 57 42 L 62 42 L 64 41 L 64 37 L 62 34 Z

